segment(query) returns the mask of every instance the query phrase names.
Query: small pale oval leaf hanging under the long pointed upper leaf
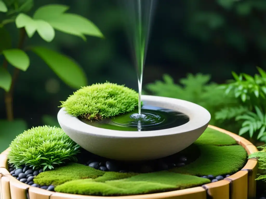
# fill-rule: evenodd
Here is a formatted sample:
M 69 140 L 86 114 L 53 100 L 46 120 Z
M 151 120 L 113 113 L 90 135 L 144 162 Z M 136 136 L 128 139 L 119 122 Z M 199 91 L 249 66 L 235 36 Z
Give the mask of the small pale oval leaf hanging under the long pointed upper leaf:
M 51 42 L 55 38 L 55 30 L 49 23 L 43 20 L 36 20 L 35 24 L 36 30 L 43 40 Z

